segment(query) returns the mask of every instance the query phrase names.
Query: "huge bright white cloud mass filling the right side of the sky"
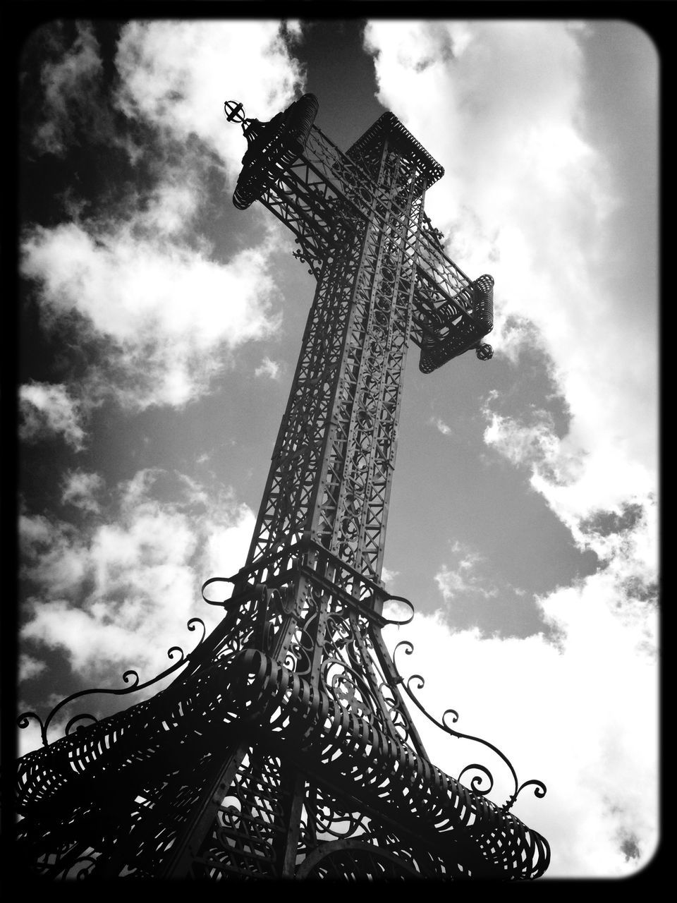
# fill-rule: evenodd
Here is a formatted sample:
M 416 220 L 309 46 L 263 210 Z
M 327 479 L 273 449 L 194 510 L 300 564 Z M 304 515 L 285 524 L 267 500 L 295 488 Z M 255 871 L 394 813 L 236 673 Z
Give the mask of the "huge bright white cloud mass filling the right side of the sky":
M 567 409 L 564 435 L 546 410 L 501 408 L 500 388 L 484 412 L 487 445 L 599 556 L 598 573 L 537 600 L 551 637 L 452 634 L 440 612 L 390 640 L 417 645 L 433 714 L 458 709 L 459 731 L 548 786 L 515 814 L 551 842 L 552 877 L 629 874 L 657 842 L 655 298 L 615 231 L 625 187 L 586 132 L 584 36 L 556 22 L 366 28 L 379 99 L 445 166 L 426 209 L 450 256 L 495 276 L 496 353 L 519 367 L 522 350 L 544 352 Z M 626 276 L 613 291 L 609 265 Z M 475 564 L 441 567 L 443 596 L 468 597 Z M 468 749 L 452 765 L 459 741 L 422 730 L 450 774 L 482 761 Z

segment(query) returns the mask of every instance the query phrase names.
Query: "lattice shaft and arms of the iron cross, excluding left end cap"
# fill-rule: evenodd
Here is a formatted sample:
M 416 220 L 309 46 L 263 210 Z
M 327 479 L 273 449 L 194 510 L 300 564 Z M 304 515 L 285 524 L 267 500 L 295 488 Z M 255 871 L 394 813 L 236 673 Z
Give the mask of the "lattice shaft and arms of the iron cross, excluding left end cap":
M 391 113 L 344 154 L 312 125 L 260 200 L 318 280 L 249 563 L 320 545 L 380 579 L 409 339 L 429 372 L 491 329 L 490 276 L 471 283 L 424 217 L 443 170 Z

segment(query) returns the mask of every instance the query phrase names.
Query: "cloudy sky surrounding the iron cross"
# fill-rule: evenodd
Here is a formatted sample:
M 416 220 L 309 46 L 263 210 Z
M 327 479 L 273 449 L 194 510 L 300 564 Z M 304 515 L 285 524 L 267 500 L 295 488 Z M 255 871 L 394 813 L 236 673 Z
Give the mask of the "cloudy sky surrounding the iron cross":
M 411 349 L 384 630 L 431 715 L 520 781 L 550 878 L 659 837 L 658 54 L 621 21 L 57 21 L 20 57 L 19 711 L 142 680 L 245 563 L 314 284 L 231 198 L 301 93 L 347 149 L 386 109 L 445 175 L 449 256 L 495 279 L 494 358 Z M 391 604 L 396 613 L 396 604 Z M 119 706 L 138 697 L 115 697 Z M 75 711 L 104 714 L 111 697 Z M 58 716 L 50 739 L 69 715 Z M 484 755 L 422 718 L 456 776 Z M 41 744 L 36 723 L 20 752 Z M 485 760 L 485 759 L 480 759 Z M 489 764 L 487 762 L 487 764 Z M 492 768 L 500 805 L 500 768 Z M 505 785 L 507 787 L 507 785 Z

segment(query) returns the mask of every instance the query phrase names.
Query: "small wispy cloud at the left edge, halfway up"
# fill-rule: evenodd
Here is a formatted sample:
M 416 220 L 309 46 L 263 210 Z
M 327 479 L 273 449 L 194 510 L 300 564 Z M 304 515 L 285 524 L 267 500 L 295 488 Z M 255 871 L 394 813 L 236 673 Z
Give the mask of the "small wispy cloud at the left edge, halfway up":
M 66 386 L 34 381 L 20 386 L 19 410 L 23 440 L 37 442 L 43 437 L 60 434 L 76 452 L 84 448 L 82 405 L 70 396 Z

